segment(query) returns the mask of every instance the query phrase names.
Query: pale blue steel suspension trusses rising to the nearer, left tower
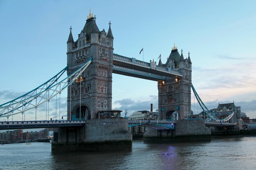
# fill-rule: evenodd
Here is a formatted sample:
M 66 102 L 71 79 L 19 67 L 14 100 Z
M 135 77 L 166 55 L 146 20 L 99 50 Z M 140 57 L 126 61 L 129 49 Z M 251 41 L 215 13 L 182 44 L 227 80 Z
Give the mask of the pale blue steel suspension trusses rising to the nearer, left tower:
M 53 97 L 60 94 L 67 86 L 71 86 L 71 84 L 85 71 L 85 69 L 92 62 L 92 57 L 86 62 L 83 66 L 81 66 L 78 70 L 76 70 L 71 75 L 65 77 L 61 81 L 58 82 L 61 75 L 67 71 L 68 66 L 63 68 L 58 74 L 49 79 L 44 84 L 38 86 L 34 90 L 13 99 L 7 103 L 0 105 L 0 117 L 9 117 L 11 115 L 16 115 L 19 113 L 25 113 L 26 111 L 37 108 L 41 104 L 48 102 L 48 118 L 49 118 L 49 100 Z M 25 117 L 25 115 L 24 115 Z M 25 119 L 25 118 L 24 118 Z

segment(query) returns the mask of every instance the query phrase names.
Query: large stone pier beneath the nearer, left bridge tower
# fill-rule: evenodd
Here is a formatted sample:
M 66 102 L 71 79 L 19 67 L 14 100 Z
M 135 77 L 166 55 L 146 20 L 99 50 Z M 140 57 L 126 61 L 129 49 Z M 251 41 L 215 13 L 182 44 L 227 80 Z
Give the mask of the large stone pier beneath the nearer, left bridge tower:
M 55 128 L 52 152 L 108 152 L 132 150 L 128 120 L 90 119 L 80 128 Z

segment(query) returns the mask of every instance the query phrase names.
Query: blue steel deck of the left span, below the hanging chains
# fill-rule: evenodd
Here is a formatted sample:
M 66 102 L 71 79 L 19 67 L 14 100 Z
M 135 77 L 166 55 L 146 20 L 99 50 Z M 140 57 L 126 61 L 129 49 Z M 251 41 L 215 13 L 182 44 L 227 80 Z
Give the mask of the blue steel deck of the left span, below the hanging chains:
M 85 126 L 85 121 L 0 121 L 0 130 Z

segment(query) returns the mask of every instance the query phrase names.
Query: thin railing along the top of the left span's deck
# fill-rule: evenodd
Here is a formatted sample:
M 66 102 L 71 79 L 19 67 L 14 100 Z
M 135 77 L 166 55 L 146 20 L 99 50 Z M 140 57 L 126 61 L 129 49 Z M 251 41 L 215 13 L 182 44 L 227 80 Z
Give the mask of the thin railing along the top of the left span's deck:
M 54 124 L 54 123 L 83 123 L 83 120 L 55 120 L 55 121 L 0 121 L 0 124 Z

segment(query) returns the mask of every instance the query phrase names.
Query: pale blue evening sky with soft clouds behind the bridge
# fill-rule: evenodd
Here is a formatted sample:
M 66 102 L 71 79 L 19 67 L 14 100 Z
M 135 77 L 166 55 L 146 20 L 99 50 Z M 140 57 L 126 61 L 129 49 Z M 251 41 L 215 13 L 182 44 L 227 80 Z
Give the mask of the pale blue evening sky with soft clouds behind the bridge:
M 108 30 L 111 21 L 114 53 L 143 60 L 139 51 L 144 48 L 144 61 L 161 54 L 165 63 L 175 43 L 184 58 L 190 52 L 192 83 L 209 109 L 234 101 L 255 118 L 255 7 L 253 0 L 0 0 L 0 104 L 66 66 L 69 28 L 76 40 L 91 9 L 100 31 Z M 113 109 L 127 108 L 128 115 L 150 110 L 150 103 L 157 109 L 157 82 L 117 74 L 112 80 Z M 61 95 L 61 113 L 50 104 L 50 117 L 67 116 L 66 94 Z M 191 104 L 195 114 L 201 111 L 193 94 Z M 44 108 L 38 110 L 38 119 L 45 119 Z M 35 119 L 34 112 L 27 113 L 29 119 Z

